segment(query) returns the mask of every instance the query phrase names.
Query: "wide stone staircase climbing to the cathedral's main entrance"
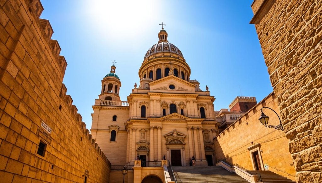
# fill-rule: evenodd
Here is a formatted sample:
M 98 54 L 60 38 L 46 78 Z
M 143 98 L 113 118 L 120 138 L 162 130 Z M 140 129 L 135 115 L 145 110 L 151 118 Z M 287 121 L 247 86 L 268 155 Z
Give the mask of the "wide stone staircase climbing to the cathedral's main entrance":
M 172 167 L 172 170 L 177 183 L 248 183 L 236 173 L 231 173 L 220 166 L 183 166 Z

